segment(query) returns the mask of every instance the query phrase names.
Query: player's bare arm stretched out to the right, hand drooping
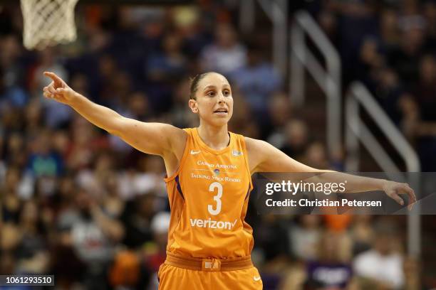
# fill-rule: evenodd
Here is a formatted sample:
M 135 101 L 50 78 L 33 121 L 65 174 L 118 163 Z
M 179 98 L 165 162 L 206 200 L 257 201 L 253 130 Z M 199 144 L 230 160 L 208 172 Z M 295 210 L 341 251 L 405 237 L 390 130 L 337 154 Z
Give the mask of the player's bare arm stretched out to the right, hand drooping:
M 321 183 L 342 183 L 347 181 L 347 193 L 358 193 L 370 190 L 383 190 L 400 205 L 404 204 L 400 194 L 409 196 L 409 210 L 416 202 L 415 192 L 407 183 L 398 183 L 384 179 L 355 176 L 331 170 L 312 168 L 292 159 L 268 142 L 246 137 L 246 149 L 249 154 L 251 173 L 255 172 L 311 172 L 318 173 L 311 181 Z M 251 153 L 252 152 L 252 153 Z M 306 180 L 307 181 L 307 180 Z

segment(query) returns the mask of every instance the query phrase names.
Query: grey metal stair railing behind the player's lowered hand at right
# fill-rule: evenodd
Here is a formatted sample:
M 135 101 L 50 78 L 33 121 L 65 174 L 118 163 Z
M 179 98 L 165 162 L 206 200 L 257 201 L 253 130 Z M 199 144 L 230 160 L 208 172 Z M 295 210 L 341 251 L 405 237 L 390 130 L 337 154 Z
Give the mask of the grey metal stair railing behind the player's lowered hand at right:
M 380 168 L 388 176 L 396 176 L 400 169 L 390 158 L 389 154 L 380 146 L 375 136 L 360 119 L 360 107 L 363 107 L 370 117 L 385 134 L 398 154 L 405 161 L 408 172 L 420 171 L 420 159 L 403 134 L 395 127 L 373 95 L 361 82 L 353 82 L 346 97 L 346 171 L 358 171 L 360 159 L 359 141 L 374 157 Z M 412 177 L 413 178 L 413 177 Z M 419 193 L 420 183 L 417 180 L 408 181 L 416 193 Z M 408 252 L 417 257 L 420 254 L 420 206 L 416 204 L 413 212 L 408 215 Z

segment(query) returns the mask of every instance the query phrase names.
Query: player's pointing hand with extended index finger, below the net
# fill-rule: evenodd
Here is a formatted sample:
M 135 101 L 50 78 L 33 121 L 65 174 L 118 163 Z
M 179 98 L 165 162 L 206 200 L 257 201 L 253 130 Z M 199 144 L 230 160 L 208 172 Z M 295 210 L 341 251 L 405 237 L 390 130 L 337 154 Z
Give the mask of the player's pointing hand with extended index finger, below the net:
M 50 77 L 52 82 L 47 87 L 43 89 L 44 97 L 48 99 L 56 100 L 63 104 L 71 104 L 73 100 L 77 97 L 77 93 L 68 87 L 66 82 L 64 82 L 61 77 L 58 77 L 55 73 L 44 72 L 46 77 Z

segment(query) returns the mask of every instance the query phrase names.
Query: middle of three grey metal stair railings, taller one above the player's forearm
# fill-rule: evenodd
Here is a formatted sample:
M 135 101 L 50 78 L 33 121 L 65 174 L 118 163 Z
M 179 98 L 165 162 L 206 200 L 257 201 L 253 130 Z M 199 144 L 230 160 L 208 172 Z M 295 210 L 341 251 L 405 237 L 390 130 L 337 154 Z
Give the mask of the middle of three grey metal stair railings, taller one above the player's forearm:
M 311 38 L 321 51 L 326 60 L 326 69 L 307 47 L 305 36 Z M 341 58 L 331 41 L 306 11 L 299 11 L 295 15 L 291 28 L 290 53 L 291 101 L 297 107 L 304 103 L 304 68 L 307 68 L 327 97 L 327 148 L 329 154 L 333 155 L 341 148 Z

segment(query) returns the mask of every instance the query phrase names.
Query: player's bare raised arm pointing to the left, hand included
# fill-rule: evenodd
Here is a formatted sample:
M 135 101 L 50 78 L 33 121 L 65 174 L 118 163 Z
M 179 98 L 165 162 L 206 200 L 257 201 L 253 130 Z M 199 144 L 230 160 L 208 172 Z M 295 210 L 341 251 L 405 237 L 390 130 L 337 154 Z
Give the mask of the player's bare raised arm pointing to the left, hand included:
M 170 124 L 145 123 L 123 117 L 75 92 L 56 74 L 46 72 L 44 75 L 53 80 L 43 89 L 45 97 L 68 104 L 95 126 L 120 136 L 142 152 L 164 156 L 167 152 L 174 151 L 176 141 L 186 139 L 182 129 Z

